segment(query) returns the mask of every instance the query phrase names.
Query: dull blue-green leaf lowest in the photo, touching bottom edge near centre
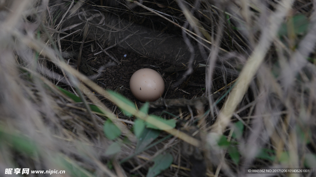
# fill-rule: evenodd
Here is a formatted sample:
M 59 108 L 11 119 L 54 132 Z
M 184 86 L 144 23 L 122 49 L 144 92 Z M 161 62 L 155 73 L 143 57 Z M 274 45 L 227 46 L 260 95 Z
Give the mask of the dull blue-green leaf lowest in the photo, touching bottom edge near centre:
M 146 177 L 155 177 L 163 170 L 169 168 L 173 161 L 173 156 L 170 153 L 166 153 L 165 155 L 159 154 L 153 161 L 155 164 L 149 168 Z

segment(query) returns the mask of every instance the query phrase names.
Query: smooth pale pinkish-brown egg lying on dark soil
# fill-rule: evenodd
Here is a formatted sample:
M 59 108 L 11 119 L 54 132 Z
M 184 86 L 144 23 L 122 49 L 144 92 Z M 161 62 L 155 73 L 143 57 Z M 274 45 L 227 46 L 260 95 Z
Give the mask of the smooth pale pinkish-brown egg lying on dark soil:
M 135 98 L 140 101 L 155 101 L 165 91 L 165 82 L 157 71 L 143 68 L 132 75 L 130 89 Z

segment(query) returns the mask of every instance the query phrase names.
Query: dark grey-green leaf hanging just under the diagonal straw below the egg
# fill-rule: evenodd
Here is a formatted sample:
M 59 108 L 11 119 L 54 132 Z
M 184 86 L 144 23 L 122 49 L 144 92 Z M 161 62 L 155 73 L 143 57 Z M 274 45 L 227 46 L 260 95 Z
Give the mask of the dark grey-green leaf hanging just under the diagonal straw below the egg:
M 137 141 L 137 146 L 135 151 L 143 151 L 153 140 L 155 140 L 160 134 L 160 130 L 154 130 L 151 128 L 145 128 L 143 133 Z

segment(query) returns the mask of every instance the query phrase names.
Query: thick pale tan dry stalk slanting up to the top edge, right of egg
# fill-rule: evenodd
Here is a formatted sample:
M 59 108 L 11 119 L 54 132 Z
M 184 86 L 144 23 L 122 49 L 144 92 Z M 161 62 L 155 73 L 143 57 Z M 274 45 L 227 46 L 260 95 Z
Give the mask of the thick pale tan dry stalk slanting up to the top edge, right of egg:
M 216 132 L 218 134 L 222 134 L 224 132 L 236 107 L 246 93 L 250 81 L 256 74 L 273 39 L 276 37 L 283 18 L 291 9 L 293 2 L 293 0 L 284 0 L 280 2 L 277 11 L 270 16 L 269 26 L 263 29 L 258 45 L 240 72 L 237 84 L 225 101 L 216 123 L 213 125 L 212 132 Z

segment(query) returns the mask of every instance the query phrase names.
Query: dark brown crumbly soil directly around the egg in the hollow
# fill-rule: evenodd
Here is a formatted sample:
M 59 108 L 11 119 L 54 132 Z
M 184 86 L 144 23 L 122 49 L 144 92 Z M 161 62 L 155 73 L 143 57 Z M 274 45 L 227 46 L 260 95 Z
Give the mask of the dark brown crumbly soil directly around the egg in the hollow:
M 202 96 L 205 92 L 205 67 L 198 68 L 196 72 L 192 74 L 190 85 L 196 84 L 196 86 L 189 85 L 185 87 L 182 84 L 174 86 L 173 83 L 176 83 L 182 78 L 185 70 L 175 72 L 164 72 L 164 70 L 170 67 L 178 67 L 181 69 L 181 66 L 187 65 L 187 63 L 182 62 L 174 66 L 167 59 L 150 59 L 121 47 L 114 47 L 107 52 L 119 60 L 120 64 L 117 64 L 103 52 L 94 56 L 96 52 L 92 52 L 90 47 L 87 48 L 90 50 L 83 50 L 82 57 L 87 59 L 87 63 L 91 68 L 99 70 L 102 66 L 106 66 L 95 81 L 102 88 L 118 91 L 129 100 L 136 102 L 137 105 L 139 105 L 139 101 L 132 95 L 129 81 L 132 74 L 141 68 L 151 68 L 161 74 L 165 80 L 165 92 L 163 97 L 166 99 L 192 99 Z M 124 57 L 125 54 L 126 57 Z

